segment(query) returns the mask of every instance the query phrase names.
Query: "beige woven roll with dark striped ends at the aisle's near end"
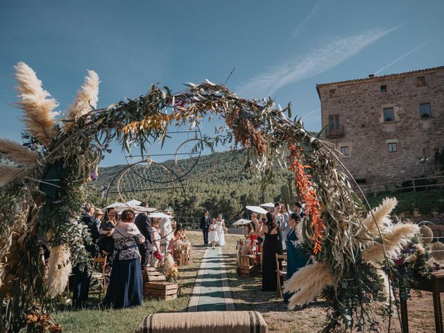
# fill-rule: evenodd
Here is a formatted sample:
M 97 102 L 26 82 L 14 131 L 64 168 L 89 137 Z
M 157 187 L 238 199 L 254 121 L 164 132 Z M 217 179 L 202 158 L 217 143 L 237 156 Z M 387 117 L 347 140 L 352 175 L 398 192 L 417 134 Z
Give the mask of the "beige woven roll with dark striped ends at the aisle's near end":
M 266 333 L 268 327 L 257 311 L 200 311 L 145 316 L 136 333 Z

